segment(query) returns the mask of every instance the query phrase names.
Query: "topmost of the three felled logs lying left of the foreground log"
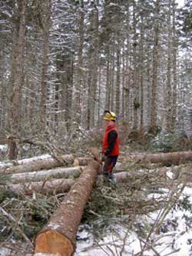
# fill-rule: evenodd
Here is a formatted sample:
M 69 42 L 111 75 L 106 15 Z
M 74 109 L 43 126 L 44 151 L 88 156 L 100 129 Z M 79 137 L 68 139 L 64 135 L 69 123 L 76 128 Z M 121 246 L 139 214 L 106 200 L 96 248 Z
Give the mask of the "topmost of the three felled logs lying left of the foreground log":
M 73 165 L 73 155 L 62 155 L 59 158 L 35 159 L 29 158 L 27 161 L 20 160 L 15 165 L 0 168 L 0 173 L 22 173 L 38 171 L 42 169 L 51 169 L 59 166 Z

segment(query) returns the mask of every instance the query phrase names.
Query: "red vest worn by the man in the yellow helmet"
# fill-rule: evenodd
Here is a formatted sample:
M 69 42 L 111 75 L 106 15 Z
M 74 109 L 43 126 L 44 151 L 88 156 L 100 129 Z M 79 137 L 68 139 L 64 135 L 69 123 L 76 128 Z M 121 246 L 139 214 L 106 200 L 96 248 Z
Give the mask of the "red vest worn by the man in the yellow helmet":
M 110 140 L 110 135 L 109 135 L 110 131 L 117 132 L 117 138 L 114 138 L 115 141 Z M 109 147 L 111 147 L 111 142 L 112 142 L 112 145 L 114 146 L 109 150 Z M 108 126 L 104 132 L 102 152 L 108 153 L 108 151 L 111 151 L 111 152 L 105 155 L 111 155 L 111 156 L 119 155 L 119 135 L 118 135 L 118 129 L 116 128 L 115 124 Z

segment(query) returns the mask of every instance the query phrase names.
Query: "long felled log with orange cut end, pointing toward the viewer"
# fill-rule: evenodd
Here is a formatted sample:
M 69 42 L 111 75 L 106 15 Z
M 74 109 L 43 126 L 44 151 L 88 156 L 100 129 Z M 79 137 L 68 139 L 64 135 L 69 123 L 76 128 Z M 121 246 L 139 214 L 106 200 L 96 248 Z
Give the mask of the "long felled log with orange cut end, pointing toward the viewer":
M 48 224 L 35 239 L 35 256 L 71 256 L 75 250 L 78 224 L 98 175 L 97 161 L 91 161 L 74 183 Z

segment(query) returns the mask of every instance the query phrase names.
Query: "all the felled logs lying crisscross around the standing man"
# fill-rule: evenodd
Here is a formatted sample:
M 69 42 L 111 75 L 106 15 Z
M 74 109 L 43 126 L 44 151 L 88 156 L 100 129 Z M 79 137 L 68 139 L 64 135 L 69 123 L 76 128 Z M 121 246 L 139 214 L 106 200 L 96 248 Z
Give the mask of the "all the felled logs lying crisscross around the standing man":
M 28 161 L 0 165 L 0 174 L 7 175 L 6 185 L 1 188 L 16 193 L 58 193 L 66 192 L 64 201 L 52 214 L 48 224 L 35 239 L 35 256 L 70 256 L 75 250 L 75 237 L 78 231 L 84 206 L 88 201 L 94 181 L 101 172 L 101 161 L 96 148 L 91 148 L 91 157 L 74 158 L 63 155 L 59 158 L 31 158 Z M 131 173 L 126 171 L 126 161 L 132 163 L 180 164 L 192 160 L 192 152 L 174 152 L 154 155 L 127 155 L 124 163 L 117 165 L 115 177 L 124 181 Z

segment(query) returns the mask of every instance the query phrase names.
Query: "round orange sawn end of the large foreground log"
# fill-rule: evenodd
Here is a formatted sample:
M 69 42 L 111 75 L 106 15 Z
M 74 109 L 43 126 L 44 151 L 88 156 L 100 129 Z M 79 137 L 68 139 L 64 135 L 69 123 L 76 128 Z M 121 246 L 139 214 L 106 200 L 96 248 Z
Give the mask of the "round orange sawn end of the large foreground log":
M 48 230 L 38 234 L 36 238 L 34 256 L 71 256 L 73 252 L 71 241 L 58 231 Z

